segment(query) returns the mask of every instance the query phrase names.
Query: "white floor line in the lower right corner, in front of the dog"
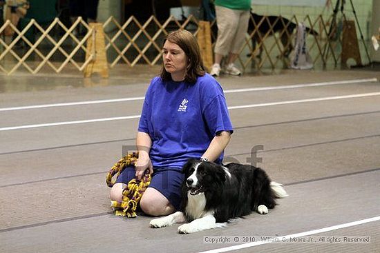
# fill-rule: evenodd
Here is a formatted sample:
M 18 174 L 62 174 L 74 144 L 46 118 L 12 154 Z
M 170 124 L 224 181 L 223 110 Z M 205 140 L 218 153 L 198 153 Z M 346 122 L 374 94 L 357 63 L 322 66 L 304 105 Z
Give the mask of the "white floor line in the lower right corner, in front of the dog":
M 340 225 L 334 225 L 331 227 L 324 227 L 324 228 L 321 228 L 319 230 L 310 230 L 310 231 L 296 233 L 296 234 L 288 234 L 285 236 L 278 236 L 278 237 L 276 237 L 270 241 L 269 240 L 267 240 L 267 241 L 256 241 L 254 243 L 245 243 L 245 244 L 234 245 L 234 246 L 230 246 L 230 247 L 221 247 L 219 249 L 207 250 L 207 251 L 198 252 L 198 253 L 220 253 L 220 252 L 229 252 L 229 251 L 233 251 L 233 250 L 241 250 L 241 249 L 245 249 L 247 247 L 255 247 L 258 245 L 272 243 L 274 241 L 283 241 L 283 240 L 285 241 L 285 240 L 289 240 L 290 238 L 298 238 L 298 237 L 302 237 L 302 236 L 310 236 L 313 234 L 321 234 L 321 233 L 329 232 L 332 230 L 340 230 L 340 229 L 345 228 L 345 227 L 353 227 L 355 225 L 362 225 L 362 224 L 370 223 L 370 222 L 374 222 L 374 221 L 380 221 L 380 216 L 376 216 L 376 217 L 372 217 L 372 218 L 368 218 L 368 219 L 363 219 L 360 221 L 352 221 L 349 223 L 343 223 Z

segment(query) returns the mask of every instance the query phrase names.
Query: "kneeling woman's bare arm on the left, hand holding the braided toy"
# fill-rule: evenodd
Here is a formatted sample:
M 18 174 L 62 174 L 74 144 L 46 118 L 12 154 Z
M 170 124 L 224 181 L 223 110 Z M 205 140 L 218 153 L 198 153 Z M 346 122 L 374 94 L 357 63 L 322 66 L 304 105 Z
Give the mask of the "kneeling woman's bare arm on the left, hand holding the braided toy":
M 142 179 L 146 169 L 149 169 L 149 173 L 153 173 L 153 165 L 149 158 L 149 150 L 152 146 L 151 136 L 146 132 L 137 132 L 136 145 L 139 152 L 139 159 L 135 163 L 136 176 Z

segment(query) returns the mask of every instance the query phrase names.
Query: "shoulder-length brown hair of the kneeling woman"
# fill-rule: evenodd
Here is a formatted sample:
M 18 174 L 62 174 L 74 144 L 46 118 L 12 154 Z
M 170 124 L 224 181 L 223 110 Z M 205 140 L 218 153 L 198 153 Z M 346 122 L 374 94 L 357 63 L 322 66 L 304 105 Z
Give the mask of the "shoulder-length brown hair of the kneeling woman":
M 196 83 L 198 77 L 205 75 L 205 66 L 203 65 L 200 49 L 196 37 L 187 30 L 176 30 L 167 35 L 164 40 L 177 44 L 186 54 L 189 62 L 187 63 L 184 81 Z M 165 70 L 162 65 L 160 77 L 164 81 L 171 81 L 171 74 Z

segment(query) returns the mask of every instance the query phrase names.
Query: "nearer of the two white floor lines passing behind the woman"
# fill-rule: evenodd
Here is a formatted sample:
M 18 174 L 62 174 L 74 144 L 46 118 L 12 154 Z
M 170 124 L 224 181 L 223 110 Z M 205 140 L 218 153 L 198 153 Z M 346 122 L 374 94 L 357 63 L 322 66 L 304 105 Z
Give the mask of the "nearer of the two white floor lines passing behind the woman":
M 234 110 L 234 109 L 272 106 L 272 105 L 286 105 L 286 104 L 291 104 L 291 103 L 307 103 L 307 102 L 314 102 L 314 101 L 327 101 L 327 100 L 336 100 L 336 99 L 352 99 L 352 98 L 359 98 L 359 97 L 372 97 L 372 96 L 379 96 L 379 95 L 380 95 L 380 92 L 372 92 L 372 93 L 352 94 L 352 95 L 335 96 L 335 97 L 319 97 L 319 98 L 315 98 L 315 99 L 278 101 L 278 102 L 272 102 L 272 103 L 256 103 L 256 104 L 251 104 L 251 105 L 236 105 L 236 106 L 230 106 L 228 109 Z M 64 122 L 55 122 L 55 123 L 41 123 L 41 124 L 34 124 L 34 125 L 19 125 L 19 126 L 13 126 L 13 127 L 0 128 L 0 131 L 19 130 L 19 129 L 26 129 L 26 128 L 42 128 L 42 127 L 48 127 L 48 126 L 54 126 L 54 125 L 73 125 L 73 124 L 93 123 L 93 122 L 100 122 L 100 121 L 117 121 L 117 120 L 122 120 L 122 119 L 137 119 L 137 118 L 140 118 L 140 115 L 104 118 L 104 119 L 88 119 L 88 120 L 82 120 L 82 121 L 64 121 Z

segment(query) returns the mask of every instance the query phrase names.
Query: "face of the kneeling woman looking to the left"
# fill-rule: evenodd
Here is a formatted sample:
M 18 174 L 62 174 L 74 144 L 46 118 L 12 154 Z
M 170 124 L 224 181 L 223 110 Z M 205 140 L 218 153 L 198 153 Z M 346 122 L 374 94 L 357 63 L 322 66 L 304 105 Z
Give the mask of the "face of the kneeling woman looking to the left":
M 162 49 L 164 68 L 171 74 L 173 81 L 182 81 L 187 67 L 187 56 L 179 45 L 165 41 Z

